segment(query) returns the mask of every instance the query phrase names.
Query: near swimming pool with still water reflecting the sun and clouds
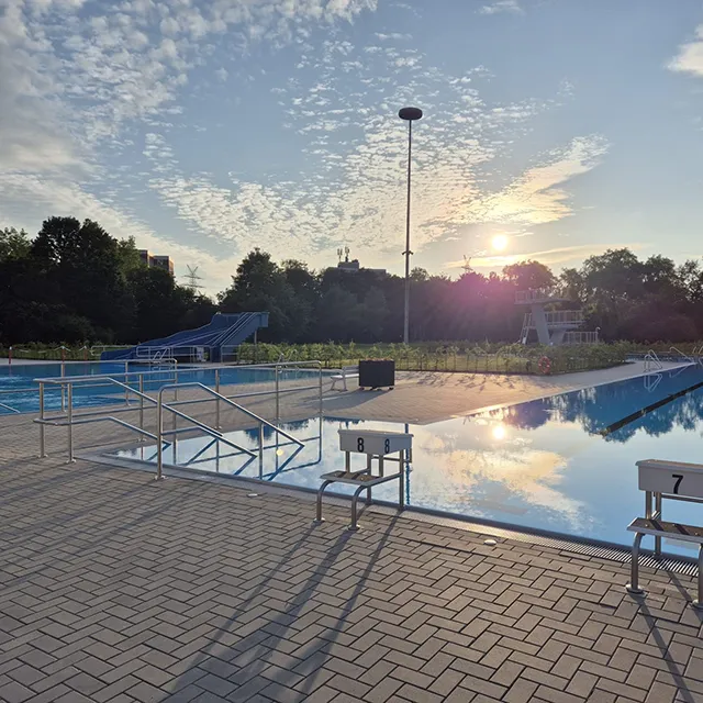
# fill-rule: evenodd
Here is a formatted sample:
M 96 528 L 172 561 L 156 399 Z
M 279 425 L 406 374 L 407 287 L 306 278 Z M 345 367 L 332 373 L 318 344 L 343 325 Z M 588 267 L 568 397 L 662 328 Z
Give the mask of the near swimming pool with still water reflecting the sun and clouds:
M 312 419 L 282 425 L 308 440 L 302 449 L 277 444 L 277 435 L 267 432 L 261 466 L 258 458 L 233 455 L 201 437 L 179 439 L 176 450 L 166 449 L 165 461 L 317 489 L 321 473 L 343 466 L 338 428 L 411 432 L 409 505 L 629 545 L 625 527 L 644 507 L 635 461 L 703 460 L 703 388 L 665 402 L 699 383 L 703 368 L 692 366 L 432 425 Z M 613 429 L 634 411 L 657 404 Z M 258 447 L 256 431 L 226 436 Z M 153 462 L 155 455 L 152 446 L 112 456 Z M 354 459 L 353 467 L 362 468 L 362 458 Z M 337 490 L 352 492 L 344 486 Z M 380 486 L 373 496 L 395 502 L 397 491 L 394 483 Z M 665 510 L 673 520 L 701 522 L 701 505 L 674 503 Z M 665 543 L 665 549 L 694 554 L 682 543 Z

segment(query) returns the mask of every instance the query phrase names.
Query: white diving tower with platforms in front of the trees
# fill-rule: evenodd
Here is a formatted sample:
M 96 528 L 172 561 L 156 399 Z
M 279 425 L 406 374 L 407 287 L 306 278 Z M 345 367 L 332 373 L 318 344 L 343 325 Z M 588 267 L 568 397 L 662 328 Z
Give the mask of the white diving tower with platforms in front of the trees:
M 545 305 L 569 302 L 561 292 L 556 289 L 529 289 L 515 293 L 516 305 L 528 305 L 529 312 L 525 313 L 523 330 L 520 333 L 520 343 L 527 344 L 529 333 L 537 333 L 537 342 L 549 346 L 561 344 L 595 344 L 595 332 L 579 331 L 583 324 L 582 310 L 555 310 L 547 312 Z

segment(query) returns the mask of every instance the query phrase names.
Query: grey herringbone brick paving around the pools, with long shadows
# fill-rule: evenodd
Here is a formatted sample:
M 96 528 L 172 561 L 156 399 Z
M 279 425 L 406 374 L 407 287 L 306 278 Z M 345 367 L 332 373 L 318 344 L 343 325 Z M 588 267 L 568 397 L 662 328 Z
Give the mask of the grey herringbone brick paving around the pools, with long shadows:
M 444 395 L 446 417 L 477 388 L 486 406 L 579 387 L 503 379 L 409 378 L 348 412 Z M 353 534 L 333 505 L 314 526 L 306 495 L 40 460 L 36 434 L 0 419 L 2 701 L 703 701 L 690 578 L 644 569 L 638 601 L 614 561 L 411 513 Z

